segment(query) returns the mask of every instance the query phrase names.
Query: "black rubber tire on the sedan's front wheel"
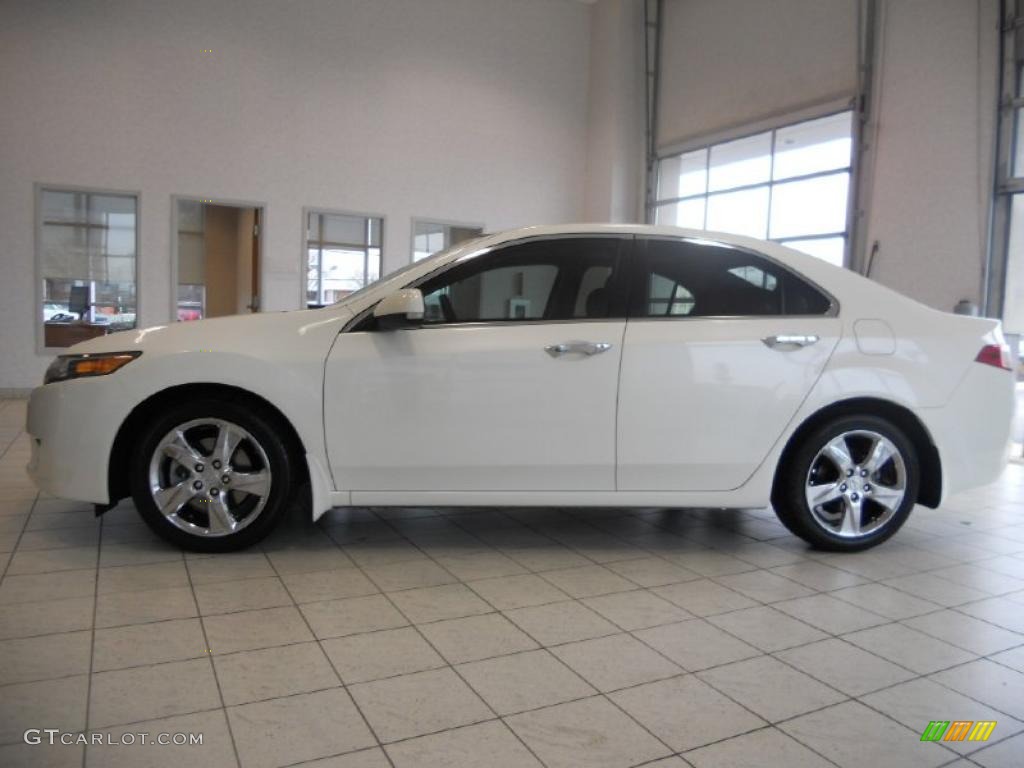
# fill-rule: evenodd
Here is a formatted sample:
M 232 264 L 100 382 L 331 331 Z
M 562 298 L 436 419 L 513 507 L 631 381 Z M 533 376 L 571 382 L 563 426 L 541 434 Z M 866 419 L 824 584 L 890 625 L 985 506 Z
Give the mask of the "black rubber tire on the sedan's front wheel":
M 219 536 L 202 536 L 189 532 L 171 522 L 160 511 L 151 493 L 151 461 L 165 435 L 183 424 L 203 419 L 221 420 L 248 432 L 249 437 L 240 443 L 240 449 L 254 456 L 258 456 L 258 451 L 261 449 L 262 456 L 258 456 L 257 461 L 262 464 L 265 457 L 266 468 L 269 470 L 269 490 L 265 494 L 265 503 L 262 509 L 253 515 L 252 520 L 248 520 L 248 517 L 245 516 L 241 517 L 240 522 L 245 520 L 248 522 L 245 522 L 244 526 L 234 532 Z M 198 428 L 202 429 L 202 426 Z M 282 425 L 275 415 L 258 404 L 246 401 L 229 401 L 211 397 L 183 402 L 166 410 L 142 431 L 132 457 L 129 471 L 131 473 L 132 499 L 136 509 L 154 531 L 183 549 L 196 552 L 232 552 L 251 547 L 269 534 L 285 517 L 293 501 L 291 498 L 294 487 L 292 482 L 293 460 L 288 445 L 280 437 L 282 433 Z M 250 438 L 258 443 L 258 447 L 253 446 Z M 203 447 L 199 446 L 198 450 L 202 452 Z M 245 460 L 246 457 L 243 455 L 242 459 Z M 180 473 L 179 477 L 184 477 L 184 473 L 181 471 L 183 467 L 172 466 L 174 466 L 175 472 Z M 257 468 L 259 468 L 258 465 Z M 191 477 L 198 476 L 191 475 Z M 219 488 L 216 492 L 219 493 Z M 209 498 L 209 494 L 215 492 L 208 488 L 206 493 Z M 225 493 L 223 498 L 226 503 L 228 495 Z M 238 500 L 240 497 L 234 494 L 230 498 Z M 258 498 L 262 500 L 264 497 Z M 243 495 L 241 499 L 245 503 L 249 497 Z M 239 509 L 243 508 L 239 507 Z M 202 508 L 197 506 L 196 502 L 189 501 L 182 508 L 181 517 L 188 518 L 186 522 L 198 521 L 199 525 L 202 526 L 203 514 Z M 180 519 L 178 515 L 175 515 L 175 518 Z M 210 518 L 207 518 L 208 527 L 212 526 L 211 523 Z

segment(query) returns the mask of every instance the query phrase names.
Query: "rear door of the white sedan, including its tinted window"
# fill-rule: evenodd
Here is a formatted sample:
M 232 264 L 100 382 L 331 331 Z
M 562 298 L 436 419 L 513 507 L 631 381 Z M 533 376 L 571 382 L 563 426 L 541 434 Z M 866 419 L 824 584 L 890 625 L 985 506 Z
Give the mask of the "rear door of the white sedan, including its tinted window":
M 621 490 L 729 490 L 754 473 L 840 336 L 831 299 L 750 251 L 638 242 L 620 382 Z

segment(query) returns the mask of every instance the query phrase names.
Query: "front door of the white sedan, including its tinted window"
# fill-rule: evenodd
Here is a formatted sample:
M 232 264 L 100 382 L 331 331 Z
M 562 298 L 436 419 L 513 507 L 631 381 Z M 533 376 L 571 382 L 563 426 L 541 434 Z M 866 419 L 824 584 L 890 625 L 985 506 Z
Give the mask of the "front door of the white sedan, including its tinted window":
M 631 244 L 502 246 L 417 286 L 422 326 L 371 317 L 339 336 L 325 380 L 337 487 L 613 490 Z

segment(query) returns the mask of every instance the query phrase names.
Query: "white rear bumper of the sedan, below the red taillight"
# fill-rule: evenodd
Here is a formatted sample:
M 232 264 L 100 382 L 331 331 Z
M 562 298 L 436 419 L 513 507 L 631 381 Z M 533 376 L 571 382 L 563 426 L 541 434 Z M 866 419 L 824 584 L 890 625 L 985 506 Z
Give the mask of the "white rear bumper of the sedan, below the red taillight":
M 974 364 L 949 402 L 920 416 L 939 451 L 942 500 L 995 480 L 1010 458 L 1015 377 Z

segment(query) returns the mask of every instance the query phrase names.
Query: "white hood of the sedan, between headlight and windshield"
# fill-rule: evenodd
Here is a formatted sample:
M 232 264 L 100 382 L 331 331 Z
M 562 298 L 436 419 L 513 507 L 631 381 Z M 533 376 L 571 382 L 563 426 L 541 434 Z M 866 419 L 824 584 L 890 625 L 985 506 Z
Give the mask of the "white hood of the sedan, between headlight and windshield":
M 290 312 L 236 314 L 204 321 L 172 323 L 166 326 L 120 331 L 76 344 L 70 354 L 98 352 L 185 352 L 243 351 L 261 342 L 285 336 L 304 336 L 325 325 L 338 330 L 351 317 L 343 306 L 302 309 Z

